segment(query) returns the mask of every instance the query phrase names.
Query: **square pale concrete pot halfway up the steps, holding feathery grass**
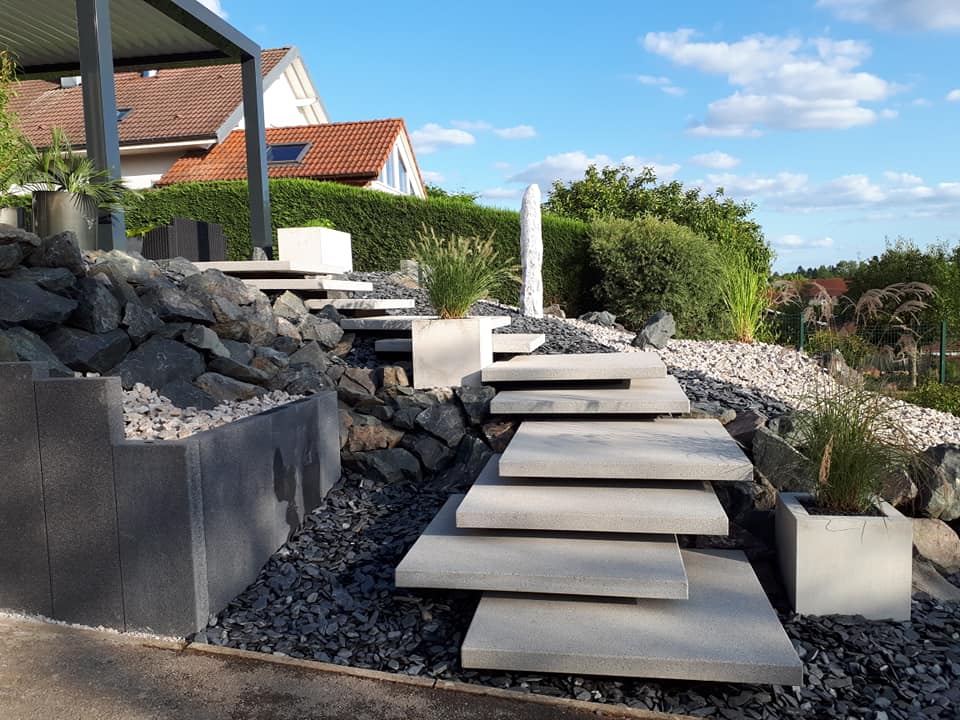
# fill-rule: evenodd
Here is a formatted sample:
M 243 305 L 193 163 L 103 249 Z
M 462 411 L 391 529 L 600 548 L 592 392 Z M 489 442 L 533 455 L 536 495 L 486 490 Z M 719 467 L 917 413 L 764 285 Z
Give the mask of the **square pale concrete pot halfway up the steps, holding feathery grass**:
M 411 331 L 414 387 L 477 386 L 493 364 L 492 318 L 414 320 Z

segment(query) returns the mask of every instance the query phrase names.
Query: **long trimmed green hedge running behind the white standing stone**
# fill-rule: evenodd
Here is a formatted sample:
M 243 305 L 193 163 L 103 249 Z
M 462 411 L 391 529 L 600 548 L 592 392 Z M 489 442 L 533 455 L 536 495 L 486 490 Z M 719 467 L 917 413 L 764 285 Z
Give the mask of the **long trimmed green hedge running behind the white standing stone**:
M 396 270 L 409 257 L 410 240 L 422 225 L 440 235 L 489 235 L 498 248 L 519 257 L 520 217 L 516 212 L 470 205 L 456 200 L 388 195 L 313 180 L 271 180 L 274 230 L 299 227 L 325 218 L 353 236 L 357 270 Z M 184 183 L 148 190 L 131 198 L 127 226 L 162 225 L 173 217 L 216 222 L 230 238 L 230 257 L 250 256 L 250 211 L 245 181 Z M 543 218 L 545 300 L 568 311 L 591 304 L 588 226 L 552 215 Z M 502 298 L 515 301 L 516 298 Z

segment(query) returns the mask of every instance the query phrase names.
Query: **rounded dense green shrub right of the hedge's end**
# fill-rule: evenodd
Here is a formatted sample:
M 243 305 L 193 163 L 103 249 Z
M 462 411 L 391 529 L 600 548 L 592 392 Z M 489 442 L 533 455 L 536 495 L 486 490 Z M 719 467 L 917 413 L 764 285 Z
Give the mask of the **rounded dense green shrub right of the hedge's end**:
M 598 221 L 590 251 L 600 269 L 598 297 L 627 327 L 640 328 L 663 309 L 681 336 L 716 336 L 717 260 L 692 230 L 649 216 Z

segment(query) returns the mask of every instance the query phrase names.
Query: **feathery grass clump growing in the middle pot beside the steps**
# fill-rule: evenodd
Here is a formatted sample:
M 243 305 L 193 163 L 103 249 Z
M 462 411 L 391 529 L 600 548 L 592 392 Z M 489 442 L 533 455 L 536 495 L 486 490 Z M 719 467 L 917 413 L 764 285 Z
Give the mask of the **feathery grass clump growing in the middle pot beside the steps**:
M 424 227 L 411 249 L 430 304 L 444 319 L 462 318 L 478 300 L 519 282 L 519 266 L 499 254 L 492 233 L 444 238 Z

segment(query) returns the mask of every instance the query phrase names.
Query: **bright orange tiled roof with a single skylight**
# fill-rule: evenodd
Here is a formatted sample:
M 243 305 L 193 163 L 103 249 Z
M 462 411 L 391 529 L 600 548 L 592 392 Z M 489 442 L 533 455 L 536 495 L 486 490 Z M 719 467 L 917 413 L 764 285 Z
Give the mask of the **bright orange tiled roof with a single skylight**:
M 267 144 L 310 143 L 299 163 L 272 164 L 271 178 L 310 178 L 366 183 L 375 180 L 406 125 L 399 118 L 267 128 Z M 419 168 L 416 169 L 419 179 Z M 173 164 L 158 185 L 247 177 L 243 130 L 235 130 L 210 150 L 189 153 Z

